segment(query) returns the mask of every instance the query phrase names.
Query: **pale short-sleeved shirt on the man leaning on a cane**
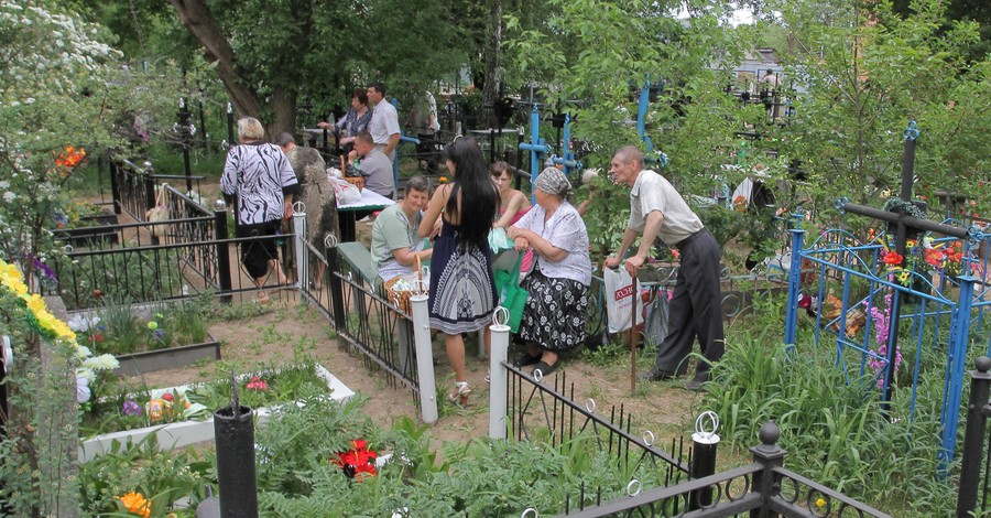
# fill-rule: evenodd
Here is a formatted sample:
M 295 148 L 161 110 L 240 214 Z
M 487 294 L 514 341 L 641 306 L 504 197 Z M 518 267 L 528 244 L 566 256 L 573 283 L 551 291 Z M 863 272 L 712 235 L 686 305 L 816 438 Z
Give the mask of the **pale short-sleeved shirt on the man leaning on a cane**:
M 643 231 L 646 216 L 653 211 L 664 215 L 657 237 L 667 246 L 675 246 L 704 228 L 701 219 L 671 182 L 651 170 L 643 170 L 630 190 L 630 223 L 627 226 Z

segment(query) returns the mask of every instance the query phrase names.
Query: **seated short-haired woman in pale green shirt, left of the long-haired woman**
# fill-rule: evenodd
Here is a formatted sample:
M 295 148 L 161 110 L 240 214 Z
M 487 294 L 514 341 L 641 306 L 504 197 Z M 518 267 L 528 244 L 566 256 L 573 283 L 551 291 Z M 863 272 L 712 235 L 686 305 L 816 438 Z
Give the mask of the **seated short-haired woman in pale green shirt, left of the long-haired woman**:
M 379 270 L 377 289 L 385 281 L 411 273 L 416 257 L 431 258 L 433 250 L 422 250 L 418 236 L 423 208 L 429 201 L 431 182 L 423 176 L 406 181 L 405 194 L 395 205 L 379 214 L 372 226 L 371 256 Z

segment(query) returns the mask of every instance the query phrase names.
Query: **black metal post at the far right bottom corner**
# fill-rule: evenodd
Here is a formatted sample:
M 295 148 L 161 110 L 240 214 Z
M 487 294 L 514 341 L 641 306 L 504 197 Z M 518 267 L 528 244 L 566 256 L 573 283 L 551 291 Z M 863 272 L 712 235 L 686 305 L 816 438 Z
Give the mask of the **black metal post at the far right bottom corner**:
M 984 444 L 988 418 L 991 417 L 991 402 L 988 400 L 991 358 L 981 356 L 976 363 L 977 370 L 970 371 L 970 401 L 963 431 L 963 454 L 960 456 L 960 493 L 957 495 L 957 516 L 960 517 L 984 516 L 988 510 L 988 484 L 991 481 L 991 453 Z

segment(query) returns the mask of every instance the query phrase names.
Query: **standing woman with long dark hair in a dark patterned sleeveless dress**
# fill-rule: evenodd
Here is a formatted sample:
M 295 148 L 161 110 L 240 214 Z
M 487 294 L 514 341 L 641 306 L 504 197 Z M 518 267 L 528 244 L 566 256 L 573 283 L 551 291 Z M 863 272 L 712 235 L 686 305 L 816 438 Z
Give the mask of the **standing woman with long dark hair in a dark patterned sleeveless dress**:
M 498 303 L 488 237 L 499 193 L 473 139 L 455 139 L 444 154 L 454 181 L 434 193 L 420 235 L 431 235 L 440 218 L 431 262 L 431 327 L 444 333 L 447 357 L 455 370 L 455 387 L 448 399 L 464 404 L 471 389 L 465 373 L 461 333 L 484 327 Z

